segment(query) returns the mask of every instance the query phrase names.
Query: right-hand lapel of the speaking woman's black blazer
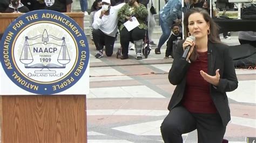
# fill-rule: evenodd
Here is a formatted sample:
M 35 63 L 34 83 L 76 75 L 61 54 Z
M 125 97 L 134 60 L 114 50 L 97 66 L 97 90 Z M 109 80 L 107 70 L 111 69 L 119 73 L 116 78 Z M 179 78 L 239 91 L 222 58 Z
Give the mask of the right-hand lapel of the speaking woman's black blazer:
M 216 54 L 214 49 L 214 44 L 208 41 L 208 75 L 215 75 L 214 66 L 216 60 Z

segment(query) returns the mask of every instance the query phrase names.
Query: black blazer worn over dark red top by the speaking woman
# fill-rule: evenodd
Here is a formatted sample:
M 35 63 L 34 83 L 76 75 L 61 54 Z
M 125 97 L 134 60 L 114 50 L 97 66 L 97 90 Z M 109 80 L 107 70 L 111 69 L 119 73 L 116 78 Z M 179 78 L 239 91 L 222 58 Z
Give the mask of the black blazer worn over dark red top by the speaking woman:
M 177 106 L 183 98 L 186 86 L 186 74 L 190 67 L 190 63 L 185 59 L 181 59 L 183 54 L 183 42 L 184 40 L 179 42 L 174 52 L 174 60 L 169 71 L 170 83 L 177 85 L 168 105 L 169 110 Z M 214 44 L 208 41 L 208 74 L 215 75 L 217 69 L 220 69 L 219 85 L 218 87 L 213 87 L 213 85 L 210 84 L 210 95 L 218 110 L 223 125 L 226 126 L 228 121 L 230 121 L 230 108 L 226 92 L 235 90 L 238 87 L 238 80 L 232 58 L 228 52 L 228 46 L 220 43 Z

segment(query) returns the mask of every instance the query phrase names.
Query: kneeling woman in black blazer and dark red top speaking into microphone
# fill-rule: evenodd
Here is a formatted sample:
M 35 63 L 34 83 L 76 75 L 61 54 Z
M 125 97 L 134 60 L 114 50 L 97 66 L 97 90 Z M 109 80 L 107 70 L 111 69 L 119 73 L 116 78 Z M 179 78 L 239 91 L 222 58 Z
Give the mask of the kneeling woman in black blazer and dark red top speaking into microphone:
M 184 26 L 184 35 L 195 40 L 179 42 L 174 53 L 169 81 L 177 86 L 161 134 L 165 142 L 182 143 L 181 134 L 197 130 L 198 142 L 221 143 L 230 121 L 226 92 L 238 87 L 233 61 L 207 11 L 191 9 Z

